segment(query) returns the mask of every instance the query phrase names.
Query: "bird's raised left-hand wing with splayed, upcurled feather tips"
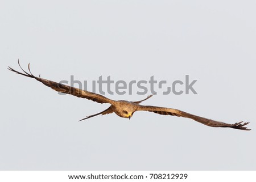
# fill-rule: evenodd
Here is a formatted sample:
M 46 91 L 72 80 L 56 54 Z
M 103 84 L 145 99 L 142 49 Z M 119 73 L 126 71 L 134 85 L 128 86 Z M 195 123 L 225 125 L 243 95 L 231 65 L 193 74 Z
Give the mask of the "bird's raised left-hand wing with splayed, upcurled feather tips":
M 18 64 L 19 64 L 19 60 L 18 60 Z M 20 64 L 19 64 L 19 67 L 20 67 L 20 69 L 22 69 Z M 35 77 L 30 71 L 30 64 L 28 64 L 28 71 L 30 73 L 27 73 L 27 71 L 24 71 L 23 69 L 22 69 L 23 73 L 20 73 L 19 71 L 14 70 L 10 66 L 9 66 L 8 69 L 15 72 L 15 73 L 18 73 L 20 75 L 23 75 L 25 77 L 34 78 L 37 81 L 42 82 L 46 86 L 51 87 L 53 90 L 56 90 L 57 92 L 75 95 L 79 98 L 85 98 L 85 99 L 96 101 L 97 103 L 110 103 L 111 104 L 114 101 L 114 100 L 106 98 L 105 96 L 95 94 L 93 92 L 88 92 L 88 91 L 85 91 L 85 90 L 81 90 L 79 88 L 67 86 L 65 84 L 49 81 L 48 79 L 43 79 L 43 78 L 40 77 L 40 75 L 39 75 L 39 77 Z

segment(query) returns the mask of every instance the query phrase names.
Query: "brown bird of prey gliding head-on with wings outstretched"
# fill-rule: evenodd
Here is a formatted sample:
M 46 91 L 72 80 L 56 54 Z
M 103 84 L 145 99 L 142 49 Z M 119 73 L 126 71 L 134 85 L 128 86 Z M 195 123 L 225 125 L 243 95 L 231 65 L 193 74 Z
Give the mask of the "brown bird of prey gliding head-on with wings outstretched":
M 18 60 L 19 64 L 19 60 Z M 171 116 L 178 116 L 178 117 L 187 117 L 191 118 L 197 122 L 201 122 L 201 124 L 207 125 L 207 126 L 212 126 L 212 127 L 223 127 L 223 128 L 234 128 L 234 129 L 240 129 L 240 130 L 250 130 L 245 127 L 245 125 L 249 124 L 249 122 L 236 122 L 235 124 L 227 124 L 225 122 L 219 122 L 219 121 L 214 121 L 210 120 L 208 118 L 192 115 L 190 113 L 180 111 L 178 109 L 172 109 L 172 108 L 166 108 L 166 107 L 156 107 L 156 106 L 151 106 L 151 105 L 141 105 L 140 103 L 144 100 L 147 100 L 151 98 L 152 95 L 148 96 L 146 99 L 139 100 L 139 101 L 126 101 L 126 100 L 112 100 L 108 99 L 105 96 L 95 94 L 93 92 L 89 92 L 86 90 L 81 90 L 79 88 L 74 88 L 71 86 L 67 86 L 65 84 L 61 83 L 56 83 L 53 81 L 49 81 L 48 79 L 43 79 L 40 77 L 35 77 L 31 71 L 30 71 L 30 64 L 28 64 L 28 71 L 25 71 L 22 69 L 22 67 L 19 64 L 20 69 L 23 71 L 23 73 L 16 71 L 9 67 L 8 69 L 11 71 L 14 71 L 15 73 L 18 73 L 20 75 L 29 77 L 29 78 L 34 78 L 39 82 L 42 82 L 44 85 L 47 87 L 51 87 L 53 90 L 57 92 L 62 92 L 65 94 L 71 94 L 75 95 L 79 98 L 85 98 L 89 99 L 92 101 L 96 101 L 97 103 L 108 103 L 111 104 L 110 107 L 102 112 L 99 112 L 94 115 L 86 116 L 82 120 L 86 120 L 88 118 L 98 116 L 98 115 L 106 115 L 110 113 L 115 113 L 116 115 L 124 118 L 130 118 L 133 116 L 134 112 L 136 111 L 149 111 L 149 112 L 154 112 L 158 113 L 159 115 L 171 115 Z M 80 121 L 82 121 L 80 120 Z

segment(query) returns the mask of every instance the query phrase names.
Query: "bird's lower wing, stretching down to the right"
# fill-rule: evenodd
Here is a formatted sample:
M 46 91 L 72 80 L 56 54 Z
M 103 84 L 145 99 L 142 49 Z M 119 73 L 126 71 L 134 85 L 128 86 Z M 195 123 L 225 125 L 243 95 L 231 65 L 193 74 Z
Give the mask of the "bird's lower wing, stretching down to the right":
M 150 112 L 158 113 L 159 115 L 188 117 L 188 118 L 192 118 L 197 122 L 201 122 L 204 125 L 212 126 L 212 127 L 225 127 L 225 128 L 235 128 L 235 129 L 241 129 L 241 130 L 250 130 L 245 127 L 245 125 L 249 124 L 249 122 L 241 121 L 241 122 L 236 122 L 235 124 L 227 124 L 225 122 L 214 121 L 208 118 L 191 115 L 187 112 L 180 111 L 178 109 L 156 107 L 156 106 L 150 106 L 150 105 L 137 105 L 136 111 L 150 111 Z

